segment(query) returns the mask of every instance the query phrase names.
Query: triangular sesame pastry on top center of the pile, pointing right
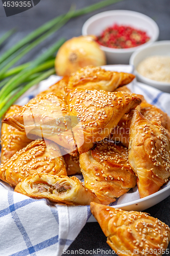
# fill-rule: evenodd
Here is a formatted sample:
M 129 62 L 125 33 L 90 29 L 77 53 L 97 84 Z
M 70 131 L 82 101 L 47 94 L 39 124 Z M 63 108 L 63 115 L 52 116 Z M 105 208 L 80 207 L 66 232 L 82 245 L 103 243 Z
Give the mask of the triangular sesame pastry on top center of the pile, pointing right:
M 79 153 L 93 147 L 93 142 L 107 138 L 124 114 L 141 103 L 135 94 L 65 88 L 70 116 L 78 117 L 72 125 Z

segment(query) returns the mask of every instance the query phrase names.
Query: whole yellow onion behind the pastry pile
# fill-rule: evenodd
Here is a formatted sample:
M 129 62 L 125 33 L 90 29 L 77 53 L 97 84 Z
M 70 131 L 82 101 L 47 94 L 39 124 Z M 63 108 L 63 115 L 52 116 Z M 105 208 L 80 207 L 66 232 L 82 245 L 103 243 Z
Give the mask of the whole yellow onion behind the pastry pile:
M 95 42 L 95 36 L 79 36 L 67 40 L 59 49 L 55 69 L 59 76 L 69 76 L 85 66 L 106 65 L 105 53 Z

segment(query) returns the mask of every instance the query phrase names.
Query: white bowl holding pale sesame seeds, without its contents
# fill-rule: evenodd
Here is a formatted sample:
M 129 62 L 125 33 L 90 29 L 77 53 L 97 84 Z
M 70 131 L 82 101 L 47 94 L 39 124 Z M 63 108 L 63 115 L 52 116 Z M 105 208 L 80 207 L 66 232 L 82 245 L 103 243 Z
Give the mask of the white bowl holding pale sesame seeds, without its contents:
M 149 79 L 140 75 L 136 70 L 139 62 L 147 57 L 155 55 L 164 55 L 170 57 L 170 40 L 153 42 L 153 44 L 148 47 L 142 47 L 140 50 L 132 54 L 129 63 L 134 66 L 134 73 L 138 81 L 149 84 L 149 86 L 155 87 L 163 92 L 170 93 L 170 83 L 158 82 Z

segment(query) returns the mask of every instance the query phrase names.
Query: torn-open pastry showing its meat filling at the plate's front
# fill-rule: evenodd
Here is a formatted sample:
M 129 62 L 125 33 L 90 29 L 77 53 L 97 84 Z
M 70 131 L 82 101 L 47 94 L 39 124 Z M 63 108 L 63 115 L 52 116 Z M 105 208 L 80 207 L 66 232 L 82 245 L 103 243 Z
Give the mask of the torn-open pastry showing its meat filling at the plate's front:
M 46 198 L 52 202 L 89 205 L 98 198 L 77 177 L 38 174 L 21 181 L 15 191 L 32 198 Z

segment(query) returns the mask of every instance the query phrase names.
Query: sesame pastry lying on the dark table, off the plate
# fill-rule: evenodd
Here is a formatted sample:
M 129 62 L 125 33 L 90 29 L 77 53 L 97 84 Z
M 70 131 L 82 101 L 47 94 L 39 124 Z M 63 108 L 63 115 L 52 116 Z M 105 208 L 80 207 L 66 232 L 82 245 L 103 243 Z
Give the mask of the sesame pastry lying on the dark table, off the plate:
M 160 220 L 145 212 L 125 211 L 95 202 L 90 209 L 117 255 L 157 256 L 166 250 L 170 228 Z

